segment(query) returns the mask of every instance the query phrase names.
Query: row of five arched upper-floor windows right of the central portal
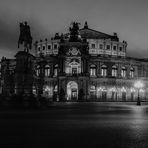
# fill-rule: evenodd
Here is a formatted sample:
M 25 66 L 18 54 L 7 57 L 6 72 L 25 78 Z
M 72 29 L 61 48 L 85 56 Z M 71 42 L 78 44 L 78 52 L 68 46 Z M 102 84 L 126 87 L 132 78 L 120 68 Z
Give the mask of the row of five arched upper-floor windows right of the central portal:
M 96 76 L 96 75 L 97 75 L 96 65 L 90 65 L 90 76 Z M 118 76 L 118 67 L 116 65 L 112 66 L 111 75 L 113 77 Z M 107 66 L 106 65 L 101 66 L 101 76 L 104 76 L 104 77 L 107 76 Z M 127 76 L 127 69 L 126 69 L 126 67 L 123 66 L 121 68 L 121 77 L 126 77 L 126 76 Z M 130 68 L 129 76 L 130 76 L 130 78 L 134 77 L 134 68 L 133 67 Z

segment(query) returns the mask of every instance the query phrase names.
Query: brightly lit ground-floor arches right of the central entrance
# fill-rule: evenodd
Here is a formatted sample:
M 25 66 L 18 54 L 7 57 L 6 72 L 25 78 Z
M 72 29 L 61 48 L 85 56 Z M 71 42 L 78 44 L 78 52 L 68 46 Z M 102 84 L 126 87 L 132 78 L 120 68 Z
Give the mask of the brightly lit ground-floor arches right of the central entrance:
M 105 87 L 105 86 L 90 86 L 90 98 L 100 99 L 101 101 L 111 100 L 111 101 L 136 101 L 138 96 L 138 91 L 131 87 Z M 140 97 L 144 98 L 145 90 L 140 89 Z

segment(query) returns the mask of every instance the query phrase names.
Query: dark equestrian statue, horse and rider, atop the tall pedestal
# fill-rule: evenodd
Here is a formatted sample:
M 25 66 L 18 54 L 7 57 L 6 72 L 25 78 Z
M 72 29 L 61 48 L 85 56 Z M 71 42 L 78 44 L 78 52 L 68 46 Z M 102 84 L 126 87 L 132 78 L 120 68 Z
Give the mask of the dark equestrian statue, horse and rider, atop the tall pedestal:
M 18 40 L 18 48 L 20 44 L 23 44 L 24 51 L 26 52 L 29 52 L 29 50 L 32 48 L 32 36 L 30 32 L 30 26 L 27 24 L 27 22 L 20 23 L 20 36 Z

